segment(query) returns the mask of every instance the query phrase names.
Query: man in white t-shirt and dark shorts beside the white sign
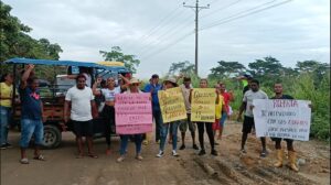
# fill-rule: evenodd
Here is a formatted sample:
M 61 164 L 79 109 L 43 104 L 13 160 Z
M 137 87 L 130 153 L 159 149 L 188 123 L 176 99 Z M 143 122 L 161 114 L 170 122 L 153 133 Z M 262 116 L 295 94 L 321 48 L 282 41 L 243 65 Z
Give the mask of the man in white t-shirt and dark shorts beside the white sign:
M 248 133 L 250 133 L 252 128 L 254 127 L 254 116 L 253 116 L 253 100 L 254 99 L 268 99 L 268 96 L 266 92 L 264 92 L 263 90 L 259 90 L 259 81 L 256 79 L 253 79 L 250 81 L 250 89 L 248 91 L 245 92 L 244 98 L 243 98 L 243 104 L 239 108 L 239 111 L 242 112 L 245 107 L 245 117 L 244 117 L 244 124 L 243 124 L 243 135 L 242 135 L 242 152 L 246 153 L 245 150 L 245 143 L 247 140 L 247 135 Z M 241 118 L 242 115 L 238 115 L 238 118 Z M 261 157 L 266 157 L 267 156 L 267 149 L 266 149 L 266 138 L 261 137 L 260 138 L 261 141 L 261 153 L 260 156 Z

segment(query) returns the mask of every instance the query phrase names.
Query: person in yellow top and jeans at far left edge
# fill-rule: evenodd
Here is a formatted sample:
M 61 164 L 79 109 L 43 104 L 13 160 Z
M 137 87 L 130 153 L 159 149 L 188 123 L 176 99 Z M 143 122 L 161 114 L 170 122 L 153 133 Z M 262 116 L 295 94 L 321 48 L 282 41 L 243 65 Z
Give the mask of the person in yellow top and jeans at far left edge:
M 0 148 L 11 148 L 8 143 L 8 130 L 11 113 L 11 99 L 13 95 L 13 78 L 11 74 L 3 74 L 0 83 Z

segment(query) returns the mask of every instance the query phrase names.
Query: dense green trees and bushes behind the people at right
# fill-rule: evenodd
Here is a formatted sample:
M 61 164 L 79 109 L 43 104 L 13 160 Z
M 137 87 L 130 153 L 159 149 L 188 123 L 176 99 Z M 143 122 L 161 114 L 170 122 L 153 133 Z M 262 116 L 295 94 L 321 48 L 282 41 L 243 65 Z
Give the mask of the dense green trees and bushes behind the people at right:
M 188 68 L 181 68 L 183 66 Z M 226 70 L 227 68 L 229 70 Z M 173 75 L 173 72 L 193 77 L 193 86 L 199 87 L 199 78 L 193 74 L 194 67 L 192 68 L 189 62 L 173 63 L 169 75 Z M 236 78 L 239 74 L 252 74 L 261 83 L 261 89 L 269 97 L 274 96 L 273 85 L 276 81 L 282 83 L 285 94 L 296 99 L 311 100 L 311 137 L 330 141 L 330 64 L 303 61 L 298 62 L 296 68 L 290 68 L 284 67 L 279 61 L 269 56 L 249 63 L 248 68 L 238 62 L 221 61 L 218 66 L 212 68 L 211 72 L 210 87 L 221 80 L 226 84 L 228 90 L 234 91 L 235 101 L 231 106 L 235 111 L 238 110 L 243 97 L 242 83 Z

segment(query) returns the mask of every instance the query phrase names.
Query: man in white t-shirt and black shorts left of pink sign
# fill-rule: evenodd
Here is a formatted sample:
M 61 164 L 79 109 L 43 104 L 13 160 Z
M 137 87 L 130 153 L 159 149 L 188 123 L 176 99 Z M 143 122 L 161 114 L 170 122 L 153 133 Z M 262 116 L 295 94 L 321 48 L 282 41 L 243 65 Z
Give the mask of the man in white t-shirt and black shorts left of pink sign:
M 74 130 L 76 134 L 76 143 L 78 148 L 77 159 L 84 156 L 83 150 L 83 137 L 86 137 L 87 148 L 89 157 L 98 157 L 93 152 L 93 112 L 96 111 L 96 105 L 94 101 L 94 96 L 92 89 L 86 87 L 86 77 L 84 75 L 78 75 L 76 78 L 76 86 L 70 88 L 65 96 L 64 102 L 64 122 L 68 121 L 68 108 L 71 109 L 71 121 L 74 124 Z

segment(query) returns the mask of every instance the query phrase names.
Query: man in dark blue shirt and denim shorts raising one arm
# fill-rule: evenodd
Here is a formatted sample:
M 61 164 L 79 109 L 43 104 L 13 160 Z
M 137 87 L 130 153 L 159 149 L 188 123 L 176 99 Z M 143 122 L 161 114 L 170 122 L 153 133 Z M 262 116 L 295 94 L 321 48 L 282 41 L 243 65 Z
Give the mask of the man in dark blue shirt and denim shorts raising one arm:
M 21 163 L 29 164 L 26 157 L 26 149 L 31 137 L 34 135 L 34 160 L 44 161 L 44 156 L 40 153 L 39 146 L 43 144 L 44 126 L 43 126 L 43 104 L 38 90 L 39 80 L 35 76 L 29 77 L 34 65 L 29 64 L 23 73 L 20 84 L 21 97 Z

